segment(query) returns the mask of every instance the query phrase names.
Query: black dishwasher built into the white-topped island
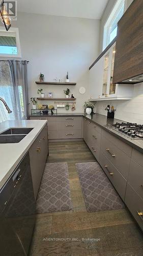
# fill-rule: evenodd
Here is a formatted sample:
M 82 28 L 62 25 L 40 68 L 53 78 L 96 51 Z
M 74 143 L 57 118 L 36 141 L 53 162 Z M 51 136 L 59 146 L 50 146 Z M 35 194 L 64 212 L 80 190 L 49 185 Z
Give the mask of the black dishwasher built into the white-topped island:
M 36 220 L 36 203 L 27 153 L 0 190 L 0 250 L 3 256 L 25 256 Z

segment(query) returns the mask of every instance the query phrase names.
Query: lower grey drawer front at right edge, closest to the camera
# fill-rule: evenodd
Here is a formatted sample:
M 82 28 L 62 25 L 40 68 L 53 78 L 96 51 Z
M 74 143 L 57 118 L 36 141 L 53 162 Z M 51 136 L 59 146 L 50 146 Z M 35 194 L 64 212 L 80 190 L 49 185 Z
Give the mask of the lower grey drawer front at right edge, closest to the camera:
M 127 183 L 125 203 L 143 231 L 143 200 L 136 194 L 129 183 Z

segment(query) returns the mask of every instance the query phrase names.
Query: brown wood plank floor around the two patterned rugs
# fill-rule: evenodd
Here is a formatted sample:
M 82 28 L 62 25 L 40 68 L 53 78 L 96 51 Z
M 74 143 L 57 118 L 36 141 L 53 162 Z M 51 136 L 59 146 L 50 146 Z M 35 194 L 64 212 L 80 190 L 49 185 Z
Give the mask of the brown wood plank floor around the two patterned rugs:
M 68 162 L 73 209 L 37 215 L 31 256 L 143 255 L 142 232 L 127 209 L 87 212 L 75 163 L 92 161 L 83 141 L 50 142 L 47 162 Z

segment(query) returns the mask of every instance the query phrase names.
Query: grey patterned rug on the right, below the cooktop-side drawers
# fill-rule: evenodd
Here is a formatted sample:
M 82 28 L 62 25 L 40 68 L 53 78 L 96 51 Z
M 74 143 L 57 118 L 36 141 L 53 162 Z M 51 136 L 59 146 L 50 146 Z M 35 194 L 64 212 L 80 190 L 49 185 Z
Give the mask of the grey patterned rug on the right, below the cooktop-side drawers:
M 122 199 L 97 162 L 76 163 L 87 211 L 125 208 Z

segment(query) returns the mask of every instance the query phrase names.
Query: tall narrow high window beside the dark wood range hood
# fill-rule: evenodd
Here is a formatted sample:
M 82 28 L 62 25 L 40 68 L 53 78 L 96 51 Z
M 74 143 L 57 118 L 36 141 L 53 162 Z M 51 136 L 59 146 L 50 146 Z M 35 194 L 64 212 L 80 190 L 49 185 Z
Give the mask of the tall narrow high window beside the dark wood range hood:
M 103 35 L 103 50 L 117 36 L 118 22 L 124 14 L 124 5 L 125 0 L 118 0 L 105 23 Z

